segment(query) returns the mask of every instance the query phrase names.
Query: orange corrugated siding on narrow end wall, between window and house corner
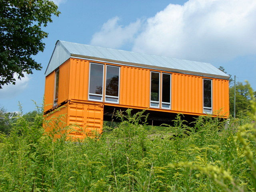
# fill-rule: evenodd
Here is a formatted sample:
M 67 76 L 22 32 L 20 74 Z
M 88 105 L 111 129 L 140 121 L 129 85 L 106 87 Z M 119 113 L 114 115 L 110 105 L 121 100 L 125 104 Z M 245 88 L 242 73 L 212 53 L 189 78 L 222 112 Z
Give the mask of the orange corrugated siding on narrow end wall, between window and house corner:
M 58 104 L 68 100 L 70 81 L 70 59 L 60 66 Z

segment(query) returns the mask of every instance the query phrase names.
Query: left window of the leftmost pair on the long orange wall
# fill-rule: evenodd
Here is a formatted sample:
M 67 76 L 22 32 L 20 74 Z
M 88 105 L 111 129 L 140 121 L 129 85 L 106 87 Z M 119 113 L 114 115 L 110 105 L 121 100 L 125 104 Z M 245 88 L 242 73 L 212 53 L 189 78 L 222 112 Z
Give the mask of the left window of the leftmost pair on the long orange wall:
M 102 101 L 104 65 L 90 63 L 89 100 Z

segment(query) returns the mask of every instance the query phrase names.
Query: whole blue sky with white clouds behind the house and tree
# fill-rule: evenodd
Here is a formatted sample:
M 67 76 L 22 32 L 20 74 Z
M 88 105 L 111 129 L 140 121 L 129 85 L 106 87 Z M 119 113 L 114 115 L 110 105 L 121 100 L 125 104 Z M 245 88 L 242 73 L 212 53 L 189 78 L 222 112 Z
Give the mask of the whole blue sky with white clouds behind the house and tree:
M 0 90 L 0 107 L 23 112 L 42 103 L 44 72 L 57 40 L 209 62 L 256 90 L 255 0 L 55 0 L 61 12 L 44 30 L 42 64 Z

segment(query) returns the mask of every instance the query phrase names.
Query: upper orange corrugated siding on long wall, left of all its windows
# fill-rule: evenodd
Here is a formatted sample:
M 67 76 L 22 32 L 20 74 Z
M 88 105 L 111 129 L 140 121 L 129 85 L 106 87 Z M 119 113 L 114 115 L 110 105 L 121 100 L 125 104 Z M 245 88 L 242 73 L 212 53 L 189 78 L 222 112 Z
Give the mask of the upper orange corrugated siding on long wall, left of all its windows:
M 89 62 L 71 58 L 68 99 L 88 100 Z

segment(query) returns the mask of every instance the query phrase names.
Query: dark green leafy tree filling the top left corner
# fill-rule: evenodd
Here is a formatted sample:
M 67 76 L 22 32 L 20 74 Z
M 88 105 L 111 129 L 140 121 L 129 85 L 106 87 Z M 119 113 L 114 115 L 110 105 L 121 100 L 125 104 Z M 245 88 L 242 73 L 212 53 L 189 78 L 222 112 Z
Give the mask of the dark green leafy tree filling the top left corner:
M 15 84 L 15 73 L 20 79 L 42 69 L 32 56 L 44 50 L 48 33 L 41 27 L 60 14 L 57 9 L 50 0 L 0 0 L 0 88 Z

